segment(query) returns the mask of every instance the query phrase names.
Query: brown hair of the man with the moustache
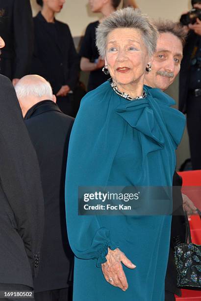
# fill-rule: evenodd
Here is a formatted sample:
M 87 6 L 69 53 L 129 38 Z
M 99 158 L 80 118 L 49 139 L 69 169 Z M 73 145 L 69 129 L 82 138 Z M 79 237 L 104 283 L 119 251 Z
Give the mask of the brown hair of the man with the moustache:
M 185 45 L 187 33 L 180 25 L 180 23 L 173 22 L 171 20 L 159 20 L 154 22 L 159 33 L 170 32 L 174 34 L 182 43 L 183 47 Z

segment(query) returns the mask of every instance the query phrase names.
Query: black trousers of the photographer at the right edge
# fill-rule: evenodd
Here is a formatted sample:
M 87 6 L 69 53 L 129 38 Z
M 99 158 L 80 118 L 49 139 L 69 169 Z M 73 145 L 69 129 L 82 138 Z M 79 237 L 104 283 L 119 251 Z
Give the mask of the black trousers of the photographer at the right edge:
M 188 95 L 187 129 L 192 168 L 201 169 L 201 96 Z

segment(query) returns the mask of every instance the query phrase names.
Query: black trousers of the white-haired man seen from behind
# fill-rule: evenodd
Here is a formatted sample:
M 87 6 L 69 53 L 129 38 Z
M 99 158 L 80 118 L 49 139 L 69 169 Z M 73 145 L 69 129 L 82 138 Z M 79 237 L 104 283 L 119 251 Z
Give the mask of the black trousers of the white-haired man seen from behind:
M 72 301 L 73 287 L 34 294 L 35 301 Z

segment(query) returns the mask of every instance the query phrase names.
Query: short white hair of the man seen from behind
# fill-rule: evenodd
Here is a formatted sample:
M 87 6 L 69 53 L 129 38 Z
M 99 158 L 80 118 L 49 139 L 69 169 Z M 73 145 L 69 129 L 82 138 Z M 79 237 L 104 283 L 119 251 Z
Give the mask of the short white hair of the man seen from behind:
M 50 99 L 52 99 L 53 96 L 50 83 L 47 81 L 38 81 L 31 83 L 21 83 L 21 81 L 19 81 L 15 86 L 15 91 L 18 98 L 24 98 L 30 95 L 36 97 L 47 95 L 50 96 Z

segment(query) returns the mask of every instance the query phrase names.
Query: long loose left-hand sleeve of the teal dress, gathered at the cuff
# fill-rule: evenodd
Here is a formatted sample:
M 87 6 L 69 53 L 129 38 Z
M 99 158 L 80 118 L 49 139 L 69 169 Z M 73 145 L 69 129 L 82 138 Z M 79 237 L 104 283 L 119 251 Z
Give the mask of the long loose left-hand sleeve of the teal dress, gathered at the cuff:
M 106 261 L 108 247 L 113 250 L 118 243 L 110 238 L 109 229 L 100 226 L 96 216 L 78 215 L 78 186 L 107 183 L 113 153 L 107 148 L 109 137 L 105 130 L 109 120 L 106 113 L 107 103 L 103 104 L 101 99 L 94 108 L 91 98 L 82 99 L 71 133 L 66 172 L 67 229 L 72 250 L 78 258 L 97 258 L 98 266 Z M 115 131 L 114 135 L 118 137 Z M 101 153 L 105 153 L 105 157 L 101 157 Z

